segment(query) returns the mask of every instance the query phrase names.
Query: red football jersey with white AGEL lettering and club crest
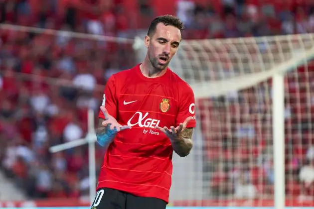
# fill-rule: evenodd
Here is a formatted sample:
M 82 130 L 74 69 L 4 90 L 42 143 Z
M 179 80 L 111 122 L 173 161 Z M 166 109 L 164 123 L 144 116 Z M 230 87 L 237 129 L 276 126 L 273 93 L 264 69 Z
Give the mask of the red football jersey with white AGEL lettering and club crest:
M 170 69 L 147 78 L 137 65 L 109 78 L 102 105 L 132 129 L 119 132 L 108 147 L 97 189 L 113 188 L 168 203 L 173 149 L 155 126 L 176 127 L 192 116 L 187 127 L 195 127 L 192 89 Z M 102 111 L 99 117 L 104 118 Z

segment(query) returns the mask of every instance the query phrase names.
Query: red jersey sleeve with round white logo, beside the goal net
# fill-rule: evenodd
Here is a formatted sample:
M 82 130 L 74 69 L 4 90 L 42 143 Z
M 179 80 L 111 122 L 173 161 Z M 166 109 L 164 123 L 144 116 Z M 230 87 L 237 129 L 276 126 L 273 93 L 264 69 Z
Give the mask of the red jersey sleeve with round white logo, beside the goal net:
M 194 128 L 196 125 L 195 120 L 195 99 L 194 99 L 194 93 L 192 88 L 185 84 L 186 86 L 184 88 L 180 87 L 182 89 L 180 98 L 178 98 L 178 113 L 175 120 L 175 125 L 178 126 L 181 122 L 184 122 L 184 120 L 192 116 L 192 119 L 187 124 L 187 128 Z

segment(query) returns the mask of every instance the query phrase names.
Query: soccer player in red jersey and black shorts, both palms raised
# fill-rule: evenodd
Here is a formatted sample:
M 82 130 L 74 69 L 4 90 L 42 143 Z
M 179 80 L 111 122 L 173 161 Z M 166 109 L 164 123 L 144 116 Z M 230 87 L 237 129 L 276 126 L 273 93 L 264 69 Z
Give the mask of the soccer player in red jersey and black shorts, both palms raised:
M 192 89 L 168 68 L 181 42 L 182 22 L 155 18 L 145 37 L 143 63 L 108 79 L 97 141 L 107 151 L 92 209 L 165 209 L 173 151 L 192 148 Z

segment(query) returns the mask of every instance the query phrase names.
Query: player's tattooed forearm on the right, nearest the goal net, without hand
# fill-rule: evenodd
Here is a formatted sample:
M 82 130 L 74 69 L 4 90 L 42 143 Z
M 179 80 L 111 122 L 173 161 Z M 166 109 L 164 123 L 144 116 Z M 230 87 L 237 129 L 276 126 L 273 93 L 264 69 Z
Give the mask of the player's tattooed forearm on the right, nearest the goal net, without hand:
M 193 147 L 192 133 L 193 128 L 185 128 L 179 134 L 179 138 L 171 142 L 173 150 L 180 157 L 185 157 L 190 153 Z

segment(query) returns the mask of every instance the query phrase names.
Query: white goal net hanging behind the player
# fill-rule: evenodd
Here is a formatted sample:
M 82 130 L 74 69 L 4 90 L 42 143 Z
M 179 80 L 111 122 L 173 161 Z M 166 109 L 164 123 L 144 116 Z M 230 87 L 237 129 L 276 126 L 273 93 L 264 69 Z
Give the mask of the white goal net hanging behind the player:
M 305 171 L 314 165 L 313 38 L 303 34 L 180 44 L 170 67 L 194 90 L 197 131 L 190 156 L 173 160 L 174 205 L 274 205 L 272 76 L 283 73 L 285 203 L 314 206 L 314 173 Z M 143 56 L 140 42 L 135 46 Z

